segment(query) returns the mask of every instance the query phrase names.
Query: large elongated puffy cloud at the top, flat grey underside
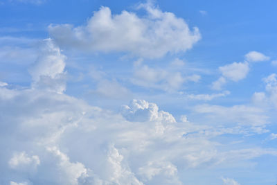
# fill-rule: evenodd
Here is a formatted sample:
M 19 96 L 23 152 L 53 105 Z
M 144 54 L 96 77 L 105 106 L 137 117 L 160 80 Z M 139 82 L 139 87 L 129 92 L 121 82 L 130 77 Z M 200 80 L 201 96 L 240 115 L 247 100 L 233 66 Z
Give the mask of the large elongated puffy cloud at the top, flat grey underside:
M 147 15 L 124 10 L 111 15 L 108 7 L 93 13 L 87 25 L 51 25 L 49 33 L 61 46 L 82 51 L 127 52 L 143 58 L 161 58 L 185 52 L 200 39 L 198 28 L 190 30 L 184 19 L 162 12 L 150 3 L 139 6 Z

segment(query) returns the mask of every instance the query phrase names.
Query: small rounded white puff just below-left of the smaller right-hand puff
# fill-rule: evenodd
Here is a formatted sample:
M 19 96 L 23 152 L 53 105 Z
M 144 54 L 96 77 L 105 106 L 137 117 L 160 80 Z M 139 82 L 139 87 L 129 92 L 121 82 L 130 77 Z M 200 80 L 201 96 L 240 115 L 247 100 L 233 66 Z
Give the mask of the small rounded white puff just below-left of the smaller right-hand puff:
M 219 67 L 222 76 L 238 82 L 247 76 L 249 72 L 249 64 L 247 62 L 233 62 L 223 67 Z

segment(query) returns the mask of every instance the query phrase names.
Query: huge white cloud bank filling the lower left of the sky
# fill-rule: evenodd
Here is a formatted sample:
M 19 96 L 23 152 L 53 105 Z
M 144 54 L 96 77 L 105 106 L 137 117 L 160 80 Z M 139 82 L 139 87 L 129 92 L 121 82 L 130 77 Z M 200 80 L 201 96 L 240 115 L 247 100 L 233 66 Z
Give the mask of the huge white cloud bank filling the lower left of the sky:
M 185 117 L 178 123 L 145 100 L 133 100 L 117 114 L 53 91 L 1 91 L 10 94 L 0 93 L 0 130 L 5 130 L 0 134 L 0 181 L 6 184 L 181 184 L 181 168 L 277 155 L 266 149 L 221 151 L 208 137 L 213 134 L 207 136 L 215 127 L 194 125 Z M 207 109 L 223 109 L 225 118 L 235 112 Z M 245 113 L 234 119 L 247 119 Z M 260 116 L 259 110 L 253 113 Z

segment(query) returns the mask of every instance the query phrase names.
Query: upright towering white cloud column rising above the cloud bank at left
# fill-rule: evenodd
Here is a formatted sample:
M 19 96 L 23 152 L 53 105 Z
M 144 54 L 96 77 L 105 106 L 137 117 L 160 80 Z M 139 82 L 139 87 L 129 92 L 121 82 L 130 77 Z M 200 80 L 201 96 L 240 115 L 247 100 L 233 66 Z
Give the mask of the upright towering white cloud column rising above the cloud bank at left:
M 65 85 L 65 55 L 52 39 L 44 39 L 40 46 L 37 60 L 29 69 L 33 78 L 33 86 L 55 91 L 59 94 L 66 89 Z

